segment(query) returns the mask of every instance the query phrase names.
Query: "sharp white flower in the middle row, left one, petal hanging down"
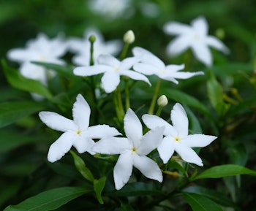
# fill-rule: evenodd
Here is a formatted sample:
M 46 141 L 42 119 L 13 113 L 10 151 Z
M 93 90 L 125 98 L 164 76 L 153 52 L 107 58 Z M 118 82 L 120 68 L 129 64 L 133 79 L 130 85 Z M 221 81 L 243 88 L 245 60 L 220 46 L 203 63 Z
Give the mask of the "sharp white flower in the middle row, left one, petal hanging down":
M 130 68 L 138 62 L 138 58 L 125 58 L 118 61 L 112 55 L 99 55 L 98 64 L 93 66 L 82 66 L 74 69 L 74 74 L 80 76 L 91 76 L 94 74 L 104 73 L 102 77 L 102 88 L 106 93 L 110 93 L 116 89 L 120 83 L 120 76 L 125 75 L 133 80 L 143 80 L 149 85 L 148 78 L 138 72 L 130 70 Z

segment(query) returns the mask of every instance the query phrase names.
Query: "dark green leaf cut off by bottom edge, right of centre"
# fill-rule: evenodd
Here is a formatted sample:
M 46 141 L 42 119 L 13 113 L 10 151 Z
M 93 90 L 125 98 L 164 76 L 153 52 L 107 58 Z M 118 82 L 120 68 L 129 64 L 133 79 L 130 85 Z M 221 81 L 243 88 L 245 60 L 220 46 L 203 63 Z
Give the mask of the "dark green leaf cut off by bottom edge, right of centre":
M 195 193 L 182 194 L 193 211 L 222 211 L 222 207 L 220 207 L 219 204 L 204 196 L 200 196 Z

